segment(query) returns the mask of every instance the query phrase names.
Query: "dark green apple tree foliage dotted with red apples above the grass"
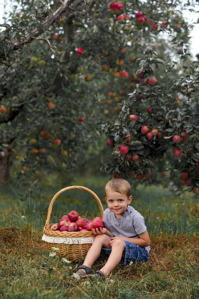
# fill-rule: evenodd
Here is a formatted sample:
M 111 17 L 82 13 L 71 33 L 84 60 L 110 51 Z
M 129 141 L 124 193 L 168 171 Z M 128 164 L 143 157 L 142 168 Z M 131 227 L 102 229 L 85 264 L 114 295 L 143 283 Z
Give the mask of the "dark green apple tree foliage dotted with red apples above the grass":
M 198 186 L 198 62 L 189 58 L 192 26 L 182 16 L 195 1 L 17 3 L 0 32 L 0 150 L 12 149 L 12 183 L 29 183 L 32 192 L 43 169 L 75 171 L 88 149 L 99 145 L 106 123 L 103 131 L 115 147 L 105 171 L 145 175 L 154 155 L 185 148 L 182 161 L 170 163 L 171 174 L 187 169 L 190 190 Z M 136 76 L 139 68 L 144 83 Z M 157 84 L 145 85 L 154 75 Z M 149 106 L 153 112 L 146 114 Z M 138 121 L 129 122 L 131 113 Z M 146 140 L 144 124 L 163 138 Z M 189 134 L 185 145 L 167 139 L 183 131 Z M 140 164 L 128 165 L 118 155 L 126 135 Z

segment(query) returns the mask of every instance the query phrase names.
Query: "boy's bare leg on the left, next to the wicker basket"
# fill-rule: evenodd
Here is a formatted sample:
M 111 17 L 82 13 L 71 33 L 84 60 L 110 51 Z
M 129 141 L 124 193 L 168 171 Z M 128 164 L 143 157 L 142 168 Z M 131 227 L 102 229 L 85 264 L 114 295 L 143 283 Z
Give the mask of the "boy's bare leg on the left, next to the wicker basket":
M 92 265 L 95 263 L 95 261 L 100 256 L 101 247 L 110 249 L 109 246 L 110 238 L 106 234 L 97 235 L 95 237 L 94 243 L 92 244 L 91 248 L 89 249 L 87 256 L 85 258 L 85 261 L 83 265 L 87 267 L 92 267 Z M 83 269 L 81 269 L 83 270 Z M 85 271 L 85 270 L 83 270 Z

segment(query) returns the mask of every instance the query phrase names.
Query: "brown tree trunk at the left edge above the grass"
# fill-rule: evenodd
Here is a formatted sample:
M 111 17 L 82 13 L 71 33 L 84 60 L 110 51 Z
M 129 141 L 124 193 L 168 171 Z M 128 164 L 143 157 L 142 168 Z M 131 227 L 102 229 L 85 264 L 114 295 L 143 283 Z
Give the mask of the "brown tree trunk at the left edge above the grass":
M 0 186 L 5 185 L 9 180 L 11 149 L 8 147 L 4 151 L 0 151 Z

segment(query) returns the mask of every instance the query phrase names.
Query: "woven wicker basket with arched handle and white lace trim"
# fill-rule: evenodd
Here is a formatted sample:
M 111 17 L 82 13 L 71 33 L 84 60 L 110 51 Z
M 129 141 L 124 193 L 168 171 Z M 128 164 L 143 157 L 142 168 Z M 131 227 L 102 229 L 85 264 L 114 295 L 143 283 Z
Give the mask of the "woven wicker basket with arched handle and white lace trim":
M 53 248 L 57 248 L 56 254 L 64 256 L 65 258 L 69 259 L 70 261 L 78 261 L 78 260 L 83 259 L 86 256 L 87 252 L 89 251 L 89 249 L 93 243 L 93 238 L 95 237 L 93 232 L 81 232 L 81 231 L 80 232 L 59 232 L 59 231 L 50 230 L 50 216 L 51 216 L 53 203 L 54 203 L 55 199 L 62 192 L 70 190 L 70 189 L 81 189 L 81 190 L 85 190 L 85 191 L 91 193 L 95 197 L 95 199 L 97 200 L 97 202 L 99 204 L 101 218 L 103 219 L 103 207 L 102 207 L 100 198 L 96 195 L 96 193 L 94 193 L 89 188 L 86 188 L 83 186 L 70 186 L 70 187 L 61 189 L 59 192 L 57 192 L 54 195 L 53 199 L 51 200 L 49 208 L 48 208 L 47 219 L 46 219 L 46 223 L 45 223 L 43 232 L 44 232 L 45 237 L 46 236 L 52 237 L 52 238 L 49 238 L 50 243 L 45 240 L 47 249 L 49 251 L 52 251 Z M 47 237 L 47 239 L 48 239 L 48 237 Z M 61 238 L 65 238 L 65 239 L 61 239 Z M 43 238 L 42 238 L 42 240 L 43 240 Z M 58 240 L 59 240 L 59 243 L 58 243 Z M 70 244 L 67 244 L 67 243 L 70 243 Z

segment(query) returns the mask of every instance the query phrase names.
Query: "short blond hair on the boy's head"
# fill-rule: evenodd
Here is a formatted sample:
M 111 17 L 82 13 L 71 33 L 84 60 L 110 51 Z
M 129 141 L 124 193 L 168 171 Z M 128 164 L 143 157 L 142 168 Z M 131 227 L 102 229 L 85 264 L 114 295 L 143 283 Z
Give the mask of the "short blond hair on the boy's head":
M 130 196 L 130 184 L 123 178 L 113 178 L 105 185 L 105 194 L 107 191 L 114 191 L 120 194 Z

